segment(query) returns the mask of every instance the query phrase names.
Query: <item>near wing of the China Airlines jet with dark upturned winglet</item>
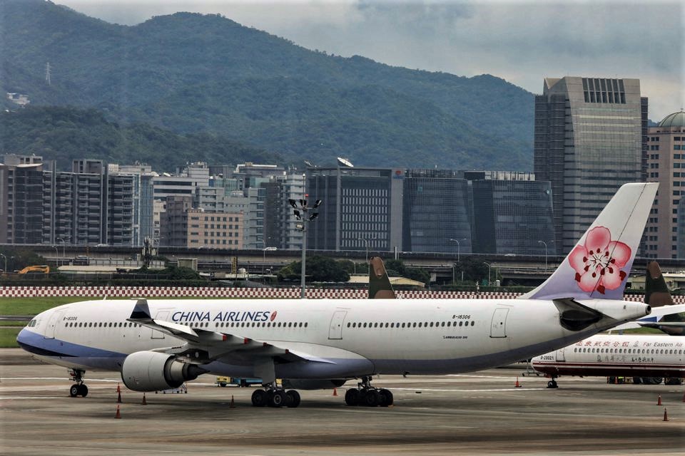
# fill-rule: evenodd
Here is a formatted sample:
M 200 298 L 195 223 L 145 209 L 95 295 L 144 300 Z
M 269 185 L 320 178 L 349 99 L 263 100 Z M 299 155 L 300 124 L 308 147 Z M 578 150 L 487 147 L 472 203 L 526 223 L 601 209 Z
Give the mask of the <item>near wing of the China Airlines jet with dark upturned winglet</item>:
M 138 299 L 128 321 L 161 331 L 186 343 L 181 346 L 161 348 L 156 351 L 176 355 L 179 361 L 206 364 L 223 358 L 226 361 L 244 364 L 255 363 L 260 359 L 275 358 L 279 363 L 305 361 L 309 363 L 333 363 L 325 358 L 311 356 L 302 351 L 275 346 L 266 341 L 235 334 L 219 333 L 202 328 L 190 328 L 172 321 L 152 318 L 148 302 Z

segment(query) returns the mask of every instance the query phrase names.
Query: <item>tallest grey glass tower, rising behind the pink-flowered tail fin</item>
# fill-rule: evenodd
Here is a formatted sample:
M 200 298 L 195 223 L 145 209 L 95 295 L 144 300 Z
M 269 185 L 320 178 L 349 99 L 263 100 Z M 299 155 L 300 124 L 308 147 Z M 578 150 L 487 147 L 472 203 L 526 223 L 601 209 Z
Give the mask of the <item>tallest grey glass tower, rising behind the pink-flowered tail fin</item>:
M 646 179 L 647 98 L 639 79 L 545 78 L 534 133 L 534 173 L 552 184 L 557 249 L 569 252 L 621 185 Z

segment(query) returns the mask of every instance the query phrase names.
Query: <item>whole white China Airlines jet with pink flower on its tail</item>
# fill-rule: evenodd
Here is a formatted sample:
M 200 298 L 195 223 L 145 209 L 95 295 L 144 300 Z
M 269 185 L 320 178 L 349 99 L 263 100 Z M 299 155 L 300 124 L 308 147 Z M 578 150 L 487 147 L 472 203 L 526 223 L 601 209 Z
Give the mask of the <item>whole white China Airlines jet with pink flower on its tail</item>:
M 622 296 L 656 188 L 622 186 L 557 271 L 519 300 L 86 301 L 39 314 L 17 341 L 71 369 L 72 396 L 87 394 L 86 370 L 108 370 L 136 391 L 178 388 L 202 373 L 261 378 L 253 405 L 273 407 L 300 403 L 285 388 L 360 378 L 348 405 L 390 405 L 372 375 L 502 366 L 649 314 Z

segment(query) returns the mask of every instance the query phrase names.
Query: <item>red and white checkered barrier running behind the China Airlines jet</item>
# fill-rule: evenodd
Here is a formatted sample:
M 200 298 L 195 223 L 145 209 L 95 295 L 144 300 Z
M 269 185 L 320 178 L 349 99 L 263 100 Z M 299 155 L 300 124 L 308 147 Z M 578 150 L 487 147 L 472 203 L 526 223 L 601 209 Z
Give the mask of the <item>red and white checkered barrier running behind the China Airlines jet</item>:
M 365 299 L 365 289 L 307 289 L 308 299 Z M 514 299 L 519 293 L 475 291 L 397 291 L 401 299 Z M 88 296 L 112 298 L 274 298 L 300 297 L 299 288 L 221 288 L 214 286 L 1 286 L 0 298 L 43 298 L 48 296 Z M 624 296 L 626 301 L 642 301 L 644 295 Z M 685 304 L 685 296 L 674 296 L 675 304 Z

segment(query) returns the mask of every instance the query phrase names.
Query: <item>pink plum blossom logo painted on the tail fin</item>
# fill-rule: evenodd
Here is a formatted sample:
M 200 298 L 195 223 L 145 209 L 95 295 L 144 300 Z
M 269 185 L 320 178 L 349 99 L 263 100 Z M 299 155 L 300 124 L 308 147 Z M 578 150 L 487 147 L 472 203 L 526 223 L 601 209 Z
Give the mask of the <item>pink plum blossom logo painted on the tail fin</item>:
M 587 233 L 585 245 L 577 245 L 569 254 L 569 263 L 576 271 L 575 279 L 580 289 L 604 294 L 607 289 L 621 286 L 627 276 L 621 268 L 630 257 L 630 247 L 623 242 L 612 241 L 609 229 L 594 227 Z

